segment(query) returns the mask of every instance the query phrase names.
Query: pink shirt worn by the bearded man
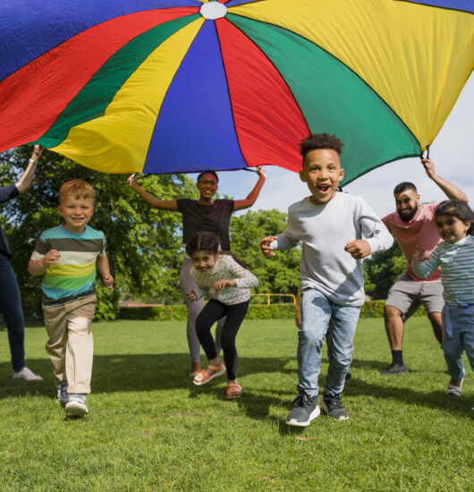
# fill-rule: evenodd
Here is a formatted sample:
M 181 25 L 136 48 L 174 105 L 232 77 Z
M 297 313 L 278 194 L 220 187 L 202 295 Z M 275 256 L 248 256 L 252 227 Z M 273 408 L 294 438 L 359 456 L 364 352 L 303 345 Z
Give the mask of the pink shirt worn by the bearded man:
M 382 219 L 386 228 L 394 234 L 407 259 L 407 274 L 417 282 L 441 280 L 441 268 L 437 268 L 427 278 L 419 278 L 413 272 L 413 268 L 411 268 L 413 251 L 417 245 L 420 250 L 426 250 L 425 257 L 427 258 L 431 251 L 436 248 L 436 244 L 441 241 L 435 224 L 435 210 L 437 205 L 437 203 L 420 205 L 418 214 L 410 222 L 403 222 L 397 212 L 393 212 Z

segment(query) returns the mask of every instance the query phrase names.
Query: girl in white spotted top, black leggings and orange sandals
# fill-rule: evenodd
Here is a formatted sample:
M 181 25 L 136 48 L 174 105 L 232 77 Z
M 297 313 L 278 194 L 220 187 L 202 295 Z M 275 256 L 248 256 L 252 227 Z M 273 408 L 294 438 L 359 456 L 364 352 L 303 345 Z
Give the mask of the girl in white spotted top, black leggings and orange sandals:
M 199 343 L 209 361 L 206 369 L 199 370 L 193 383 L 201 386 L 227 371 L 227 398 L 241 394 L 237 383 L 237 349 L 235 337 L 249 309 L 250 287 L 258 286 L 258 278 L 242 267 L 232 255 L 219 251 L 219 240 L 214 233 L 195 233 L 186 246 L 193 267 L 191 275 L 196 282 L 195 291 L 186 293 L 189 301 L 198 301 L 204 294 L 209 301 L 196 319 Z M 211 335 L 217 319 L 226 316 L 221 334 L 224 366 Z

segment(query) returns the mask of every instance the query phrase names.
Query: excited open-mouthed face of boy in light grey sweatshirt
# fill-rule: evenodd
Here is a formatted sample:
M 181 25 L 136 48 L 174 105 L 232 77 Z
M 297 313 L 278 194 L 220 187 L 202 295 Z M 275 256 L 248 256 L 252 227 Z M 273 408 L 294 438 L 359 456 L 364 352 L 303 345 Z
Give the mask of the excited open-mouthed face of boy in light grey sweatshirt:
M 332 148 L 310 150 L 300 171 L 300 180 L 308 184 L 314 205 L 323 205 L 333 199 L 343 177 L 339 154 Z

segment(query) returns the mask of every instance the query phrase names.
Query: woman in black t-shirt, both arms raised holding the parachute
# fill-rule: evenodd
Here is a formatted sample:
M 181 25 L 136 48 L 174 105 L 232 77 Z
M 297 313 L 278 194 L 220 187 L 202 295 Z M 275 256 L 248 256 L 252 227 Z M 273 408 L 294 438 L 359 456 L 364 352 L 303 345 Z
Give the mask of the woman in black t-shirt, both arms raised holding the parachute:
M 147 191 L 144 191 L 137 184 L 135 175 L 132 174 L 127 180 L 127 184 L 132 190 L 136 191 L 142 199 L 149 205 L 161 210 L 169 210 L 171 212 L 180 212 L 182 214 L 182 242 L 186 244 L 190 237 L 199 231 L 215 233 L 221 242 L 223 250 L 230 250 L 229 240 L 229 222 L 234 211 L 250 208 L 258 198 L 263 183 L 266 180 L 265 170 L 258 169 L 258 182 L 250 191 L 246 199 L 230 200 L 216 199 L 214 195 L 217 191 L 217 183 L 219 181 L 217 174 L 214 171 L 205 171 L 199 174 L 196 186 L 199 190 L 199 199 L 157 199 Z M 191 369 L 190 376 L 194 377 L 200 370 L 199 351 L 200 345 L 198 336 L 196 335 L 196 318 L 199 312 L 204 307 L 203 299 L 197 302 L 190 302 L 186 299 L 186 293 L 196 289 L 196 284 L 190 276 L 190 267 L 192 262 L 185 255 L 182 261 L 182 269 L 180 273 L 180 287 L 188 310 L 187 335 L 188 344 L 190 346 Z M 216 352 L 220 352 L 220 330 L 222 329 L 223 321 L 221 320 L 216 330 Z

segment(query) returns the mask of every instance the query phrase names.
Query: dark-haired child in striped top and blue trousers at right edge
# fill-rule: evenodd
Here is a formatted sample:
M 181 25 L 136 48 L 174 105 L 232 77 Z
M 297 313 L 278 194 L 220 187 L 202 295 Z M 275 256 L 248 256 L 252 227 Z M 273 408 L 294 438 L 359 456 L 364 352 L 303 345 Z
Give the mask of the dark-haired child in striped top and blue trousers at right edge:
M 441 347 L 451 376 L 447 394 L 461 396 L 462 381 L 466 374 L 462 367 L 463 350 L 470 361 L 470 369 L 474 370 L 473 213 L 464 201 L 445 200 L 436 208 L 435 222 L 444 241 L 439 242 L 425 260 L 425 250 L 416 250 L 411 264 L 415 274 L 422 278 L 441 266 L 445 302 Z

